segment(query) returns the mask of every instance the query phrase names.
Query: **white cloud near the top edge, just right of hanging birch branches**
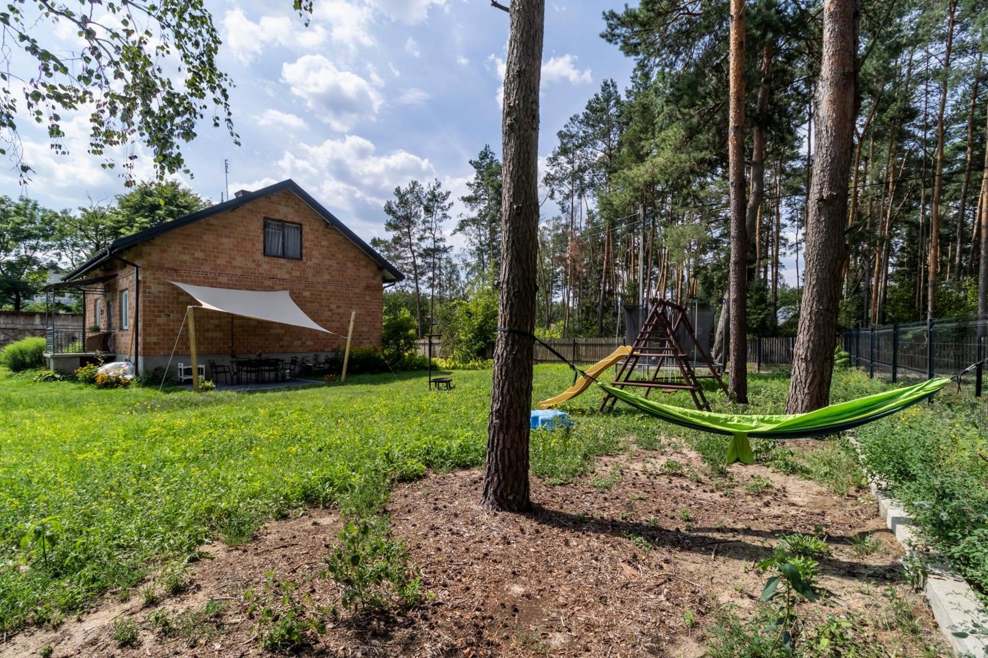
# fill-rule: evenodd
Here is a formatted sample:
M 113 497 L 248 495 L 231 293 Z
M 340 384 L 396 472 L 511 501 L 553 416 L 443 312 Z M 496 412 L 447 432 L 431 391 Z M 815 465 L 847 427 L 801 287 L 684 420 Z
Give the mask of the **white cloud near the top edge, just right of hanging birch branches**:
M 225 45 L 245 63 L 253 61 L 269 44 L 306 50 L 326 41 L 326 31 L 320 25 L 306 28 L 288 16 L 264 16 L 255 23 L 241 9 L 226 12 L 223 29 Z

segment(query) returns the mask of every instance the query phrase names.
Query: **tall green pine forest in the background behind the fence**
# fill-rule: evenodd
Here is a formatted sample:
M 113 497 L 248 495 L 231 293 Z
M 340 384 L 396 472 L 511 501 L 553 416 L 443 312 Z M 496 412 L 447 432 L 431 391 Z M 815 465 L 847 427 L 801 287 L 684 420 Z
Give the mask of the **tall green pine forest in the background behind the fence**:
M 624 90 L 605 80 L 543 159 L 543 335 L 614 335 L 620 305 L 641 297 L 723 305 L 729 12 L 713 4 L 646 1 L 605 13 L 602 38 L 634 59 L 634 76 Z M 746 324 L 750 334 L 793 335 L 822 10 L 769 1 L 746 12 Z M 977 1 L 862 7 L 841 326 L 985 310 L 985 17 Z M 376 243 L 410 275 L 401 299 L 420 316 L 439 304 L 437 322 L 499 267 L 500 165 L 489 147 L 471 164 L 467 212 L 454 223 L 439 184 L 413 182 L 385 207 L 392 237 Z M 450 229 L 465 237 L 465 259 L 453 256 Z

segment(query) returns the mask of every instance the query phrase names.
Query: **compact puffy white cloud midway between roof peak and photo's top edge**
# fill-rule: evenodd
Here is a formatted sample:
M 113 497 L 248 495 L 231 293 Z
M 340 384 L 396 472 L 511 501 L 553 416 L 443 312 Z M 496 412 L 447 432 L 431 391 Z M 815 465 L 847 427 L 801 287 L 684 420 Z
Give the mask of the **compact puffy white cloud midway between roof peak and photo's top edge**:
M 339 70 L 322 55 L 302 55 L 294 63 L 283 64 L 282 80 L 335 130 L 348 130 L 361 119 L 372 119 L 382 101 L 370 82 Z

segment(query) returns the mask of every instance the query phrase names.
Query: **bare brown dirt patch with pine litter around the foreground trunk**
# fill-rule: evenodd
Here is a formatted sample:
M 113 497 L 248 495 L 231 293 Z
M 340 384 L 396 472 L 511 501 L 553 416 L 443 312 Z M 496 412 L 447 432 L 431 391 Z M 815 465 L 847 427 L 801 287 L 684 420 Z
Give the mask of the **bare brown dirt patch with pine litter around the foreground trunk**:
M 826 596 L 802 604 L 802 617 L 851 613 L 888 655 L 931 655 L 931 646 L 947 655 L 925 605 L 901 584 L 901 550 L 866 492 L 835 496 L 762 466 L 733 466 L 733 486 L 718 488 L 700 475 L 696 453 L 672 456 L 682 473 L 664 474 L 667 456 L 637 451 L 600 458 L 593 474 L 571 484 L 533 478 L 537 506 L 526 515 L 481 509 L 479 471 L 400 485 L 392 528 L 421 570 L 426 599 L 407 614 L 327 619 L 301 653 L 700 656 L 717 609 L 736 604 L 742 617 L 754 609 L 766 579 L 755 564 L 778 535 L 799 532 L 826 533 L 831 548 L 820 560 Z M 745 486 L 764 486 L 757 478 L 772 486 Z M 136 592 L 125 602 L 108 597 L 55 628 L 14 636 L 0 655 L 37 656 L 45 645 L 55 657 L 270 655 L 244 593 L 263 591 L 274 575 L 297 582 L 313 607 L 336 605 L 339 590 L 323 566 L 339 530 L 335 512 L 313 510 L 269 523 L 243 546 L 207 545 L 211 558 L 191 566 L 187 592 L 153 605 Z M 864 535 L 881 543 L 861 556 L 853 537 Z M 911 632 L 889 622 L 888 588 L 915 613 Z M 152 620 L 161 611 L 172 619 L 167 631 Z M 136 642 L 121 648 L 115 623 L 127 620 Z

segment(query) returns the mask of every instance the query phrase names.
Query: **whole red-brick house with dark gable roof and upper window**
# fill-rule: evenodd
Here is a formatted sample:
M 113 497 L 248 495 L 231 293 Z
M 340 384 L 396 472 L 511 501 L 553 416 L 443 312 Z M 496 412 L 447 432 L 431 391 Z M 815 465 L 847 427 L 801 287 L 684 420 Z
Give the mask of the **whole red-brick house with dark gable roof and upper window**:
M 234 290 L 288 290 L 315 323 L 346 335 L 352 310 L 355 346 L 378 345 L 382 287 L 403 275 L 294 181 L 240 192 L 116 240 L 59 284 L 81 291 L 82 336 L 48 330 L 52 367 L 70 370 L 97 351 L 138 371 L 189 360 L 186 309 L 198 302 L 175 283 Z M 197 309 L 200 363 L 235 355 L 289 358 L 329 354 L 339 336 L 288 324 Z M 66 346 L 73 340 L 73 349 Z

